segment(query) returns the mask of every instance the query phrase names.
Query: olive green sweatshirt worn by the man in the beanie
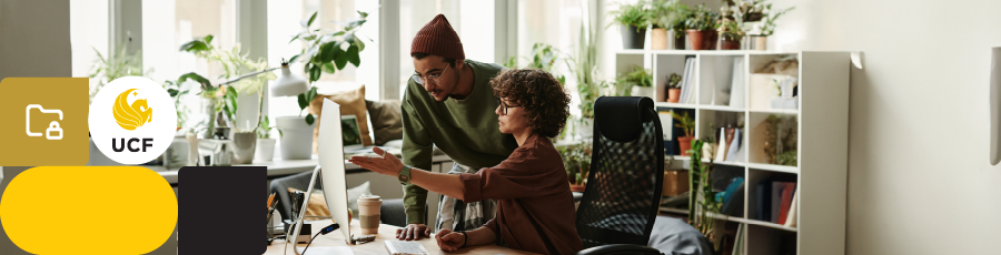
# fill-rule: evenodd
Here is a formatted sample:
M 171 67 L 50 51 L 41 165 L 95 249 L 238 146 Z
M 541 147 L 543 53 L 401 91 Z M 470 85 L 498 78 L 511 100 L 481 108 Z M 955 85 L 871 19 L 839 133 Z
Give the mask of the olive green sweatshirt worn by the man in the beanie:
M 430 170 L 432 152 L 437 145 L 456 163 L 474 170 L 490 167 L 511 156 L 518 147 L 511 134 L 502 134 L 497 123 L 497 96 L 490 79 L 504 67 L 465 60 L 473 70 L 473 94 L 464 100 L 435 99 L 412 79 L 403 100 L 403 162 Z M 427 190 L 414 184 L 404 186 L 407 224 L 426 224 Z

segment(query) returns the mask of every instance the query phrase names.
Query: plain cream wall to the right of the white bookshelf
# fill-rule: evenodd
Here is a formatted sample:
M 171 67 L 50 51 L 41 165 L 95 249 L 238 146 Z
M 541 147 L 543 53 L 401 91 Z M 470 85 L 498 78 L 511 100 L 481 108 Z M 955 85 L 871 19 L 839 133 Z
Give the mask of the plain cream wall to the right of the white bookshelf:
M 990 48 L 1001 1 L 773 0 L 771 49 L 862 51 L 852 70 L 848 254 L 998 254 Z

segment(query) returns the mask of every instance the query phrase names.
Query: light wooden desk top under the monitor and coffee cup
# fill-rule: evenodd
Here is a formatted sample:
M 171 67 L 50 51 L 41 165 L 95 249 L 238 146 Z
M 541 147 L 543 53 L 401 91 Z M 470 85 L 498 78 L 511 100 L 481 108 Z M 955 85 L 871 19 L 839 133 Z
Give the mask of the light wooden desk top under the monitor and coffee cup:
M 314 230 L 313 235 L 315 235 L 317 232 L 319 232 L 319 228 L 323 228 L 324 226 L 329 225 L 329 223 L 330 223 L 329 220 L 316 221 L 314 224 L 314 227 L 313 227 L 313 230 Z M 335 231 L 334 233 L 330 233 L 327 235 L 320 235 L 320 236 L 316 237 L 316 239 L 313 241 L 313 244 L 309 245 L 309 249 L 307 251 L 307 254 L 326 255 L 325 253 L 321 253 L 323 248 L 318 248 L 318 247 L 335 247 L 335 246 L 349 246 L 351 248 L 351 252 L 355 253 L 355 255 L 389 254 L 389 252 L 386 251 L 386 245 L 384 242 L 387 239 L 396 239 L 396 230 L 397 228 L 399 228 L 399 227 L 383 224 L 379 226 L 379 234 L 376 235 L 375 241 L 373 241 L 370 243 L 357 244 L 357 245 L 348 245 L 348 244 L 344 243 L 344 235 L 341 235 L 340 231 L 338 230 L 338 231 Z M 357 221 L 351 222 L 351 233 L 355 236 L 361 235 L 361 228 L 358 226 Z M 313 235 L 310 235 L 310 237 L 313 237 Z M 517 251 L 517 249 L 505 248 L 505 247 L 500 247 L 500 246 L 496 246 L 496 245 L 480 245 L 480 246 L 465 247 L 465 248 L 460 248 L 457 252 L 445 253 L 440 248 L 438 248 L 438 243 L 435 241 L 434 236 L 432 236 L 430 238 L 422 238 L 420 241 L 412 241 L 412 242 L 420 243 L 420 245 L 423 245 L 424 248 L 427 249 L 428 254 L 534 254 L 534 253 L 528 253 L 528 252 L 523 252 L 523 251 Z M 306 244 L 298 244 L 297 246 L 306 247 Z M 268 251 L 265 252 L 265 254 L 266 255 L 281 255 L 281 254 L 284 254 L 281 251 L 283 247 L 285 247 L 285 242 L 277 239 L 274 243 L 271 243 L 271 245 L 268 246 Z M 295 254 L 291 245 L 289 245 L 289 247 L 288 247 L 288 254 L 289 255 Z

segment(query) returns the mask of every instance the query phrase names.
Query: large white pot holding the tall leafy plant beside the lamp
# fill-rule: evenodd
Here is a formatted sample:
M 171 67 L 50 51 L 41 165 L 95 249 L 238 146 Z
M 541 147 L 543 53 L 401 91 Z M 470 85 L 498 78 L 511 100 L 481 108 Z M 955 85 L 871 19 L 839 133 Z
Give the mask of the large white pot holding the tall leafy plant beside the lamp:
M 304 118 L 275 118 L 275 128 L 281 131 L 278 140 L 283 160 L 313 159 L 313 125 L 306 124 Z

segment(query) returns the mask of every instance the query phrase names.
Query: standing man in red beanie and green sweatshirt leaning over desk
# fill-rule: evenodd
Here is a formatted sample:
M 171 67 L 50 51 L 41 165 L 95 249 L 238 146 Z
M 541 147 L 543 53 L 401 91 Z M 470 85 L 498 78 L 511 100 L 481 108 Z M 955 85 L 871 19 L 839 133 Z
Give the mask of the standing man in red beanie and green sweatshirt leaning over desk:
M 518 146 L 514 136 L 502 134 L 494 111 L 490 79 L 503 67 L 466 59 L 463 43 L 444 14 L 438 14 L 414 37 L 410 47 L 414 76 L 403 100 L 404 164 L 430 170 L 437 145 L 455 165 L 449 174 L 475 173 L 495 166 Z M 409 180 L 409 171 L 399 178 Z M 419 239 L 434 231 L 425 223 L 427 190 L 404 186 L 407 226 L 397 238 Z M 496 201 L 463 203 L 442 196 L 435 227 L 472 231 L 494 218 Z

